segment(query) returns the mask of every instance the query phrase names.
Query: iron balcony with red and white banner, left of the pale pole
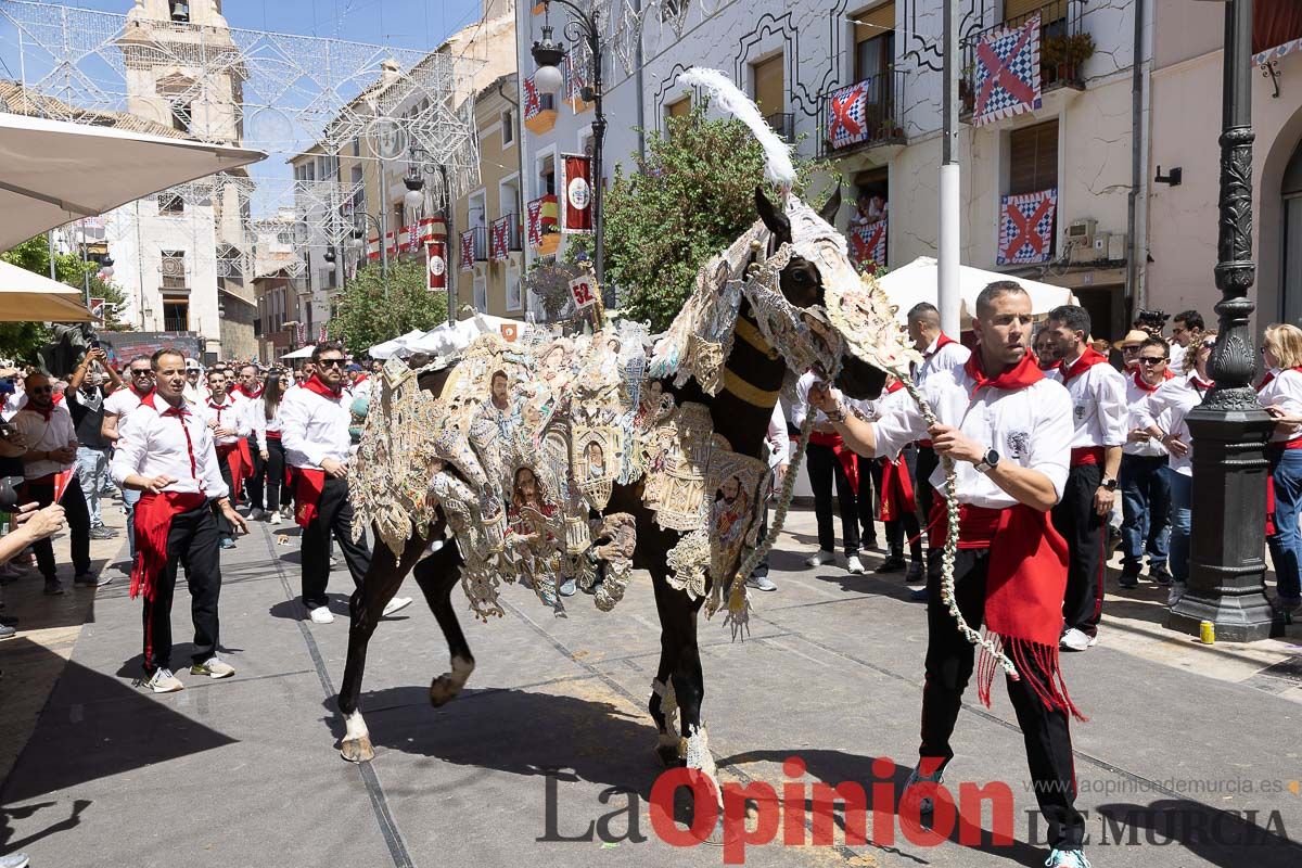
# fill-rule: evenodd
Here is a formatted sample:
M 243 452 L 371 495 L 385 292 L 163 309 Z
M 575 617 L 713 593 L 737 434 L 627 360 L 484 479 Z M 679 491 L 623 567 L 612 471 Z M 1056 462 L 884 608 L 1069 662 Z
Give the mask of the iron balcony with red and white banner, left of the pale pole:
M 902 69 L 891 69 L 824 92 L 819 98 L 819 156 L 904 146 L 904 79 Z

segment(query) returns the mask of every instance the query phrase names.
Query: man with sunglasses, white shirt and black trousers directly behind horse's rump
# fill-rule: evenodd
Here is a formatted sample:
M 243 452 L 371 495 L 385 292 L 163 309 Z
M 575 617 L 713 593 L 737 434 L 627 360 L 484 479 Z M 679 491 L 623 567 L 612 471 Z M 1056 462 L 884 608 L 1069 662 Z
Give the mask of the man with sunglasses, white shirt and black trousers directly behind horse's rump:
M 353 440 L 348 433 L 352 414 L 344 396 L 344 350 L 337 344 L 318 344 L 312 363 L 312 376 L 301 388 L 286 392 L 280 402 L 280 441 L 294 468 L 294 517 L 303 528 L 303 605 L 312 622 L 331 623 L 335 616 L 326 596 L 331 536 L 342 549 L 358 588 L 371 566 L 371 552 L 365 534 L 353 541 L 353 505 L 348 496 Z M 409 603 L 410 597 L 395 597 L 384 614 Z

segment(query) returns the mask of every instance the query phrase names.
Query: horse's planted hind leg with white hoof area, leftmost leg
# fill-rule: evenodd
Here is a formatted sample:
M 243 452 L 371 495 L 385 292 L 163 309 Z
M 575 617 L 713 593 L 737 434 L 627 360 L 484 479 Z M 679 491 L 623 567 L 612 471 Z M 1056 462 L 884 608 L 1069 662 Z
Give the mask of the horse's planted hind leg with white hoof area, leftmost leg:
M 384 614 L 384 606 L 397 593 L 402 579 L 411 571 L 417 558 L 424 550 L 424 543 L 413 534 L 402 549 L 402 557 L 395 557 L 389 547 L 375 537 L 376 545 L 371 554 L 371 567 L 362 579 L 362 586 L 349 599 L 348 662 L 344 666 L 344 682 L 339 690 L 339 711 L 344 714 L 346 729 L 339 752 L 349 763 L 366 763 L 375 756 L 371 746 L 371 733 L 362 720 L 357 707 L 362 694 L 362 675 L 366 671 L 366 647 L 371 634 Z

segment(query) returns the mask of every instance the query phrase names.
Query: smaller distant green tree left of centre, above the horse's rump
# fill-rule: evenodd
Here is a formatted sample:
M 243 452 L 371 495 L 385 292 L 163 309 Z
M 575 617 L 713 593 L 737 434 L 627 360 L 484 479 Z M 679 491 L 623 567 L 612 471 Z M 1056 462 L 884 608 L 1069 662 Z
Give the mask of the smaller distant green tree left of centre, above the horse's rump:
M 329 336 L 359 355 L 376 344 L 447 320 L 447 293 L 426 289 L 424 260 L 398 259 L 389 262 L 388 281 L 379 263 L 358 269 L 335 305 Z

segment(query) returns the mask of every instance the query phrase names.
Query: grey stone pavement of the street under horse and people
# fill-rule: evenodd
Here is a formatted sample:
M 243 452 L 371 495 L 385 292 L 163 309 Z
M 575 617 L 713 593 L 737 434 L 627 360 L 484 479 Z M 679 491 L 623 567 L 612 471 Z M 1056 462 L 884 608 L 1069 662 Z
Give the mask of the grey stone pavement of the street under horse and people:
M 902 783 L 906 768 L 875 776 L 874 760 L 911 764 L 926 645 L 923 610 L 907 601 L 900 575 L 803 566 L 812 524 L 809 513 L 793 513 L 772 561 L 780 590 L 756 600 L 745 643 L 730 642 L 717 621 L 700 627 L 720 777 L 769 782 L 779 793 L 802 785 L 785 800 L 793 829 L 801 828 L 794 808 L 815 782 Z M 391 617 L 371 643 L 362 698 L 378 756 L 357 766 L 337 755 L 333 703 L 350 582 L 335 571 L 332 605 L 342 617 L 303 621 L 297 543 L 294 534 L 277 544 L 259 523 L 224 553 L 224 657 L 238 674 L 217 682 L 181 674 L 186 690 L 165 696 L 133 686 L 139 604 L 125 579 L 56 601 L 39 591 L 16 596 L 25 582 L 9 586 L 23 626 L 57 626 L 0 644 L 0 704 L 25 709 L 29 724 L 0 718 L 0 740 L 21 747 L 0 790 L 0 852 L 23 850 L 36 868 L 723 864 L 719 847 L 660 842 L 647 816 L 660 772 L 644 711 L 659 634 L 644 576 L 612 614 L 578 595 L 568 618 L 553 618 L 531 592 L 506 587 L 506 616 L 484 625 L 457 600 L 478 669 L 441 709 L 427 701 L 448 660 L 434 617 L 419 600 Z M 419 597 L 414 582 L 402 592 Z M 1092 718 L 1073 726 L 1091 860 L 1302 864 L 1292 843 L 1302 837 L 1302 632 L 1203 647 L 1160 627 L 1156 590 L 1122 593 L 1108 596 L 1100 644 L 1065 658 L 1072 695 Z M 180 665 L 190 630 L 184 592 L 173 617 Z M 1006 691 L 996 686 L 991 709 L 974 694 L 969 700 L 947 786 L 1006 782 L 1012 845 L 991 843 L 987 807 L 976 843 L 954 833 L 919 846 L 887 795 L 874 800 L 867 845 L 841 846 L 837 833 L 838 846 L 749 848 L 747 864 L 1043 861 L 1044 824 L 1032 822 Z M 792 756 L 803 760 L 803 776 L 784 773 Z M 626 835 L 630 799 L 646 842 L 583 839 L 612 813 L 607 837 Z M 561 837 L 579 839 L 538 841 Z

